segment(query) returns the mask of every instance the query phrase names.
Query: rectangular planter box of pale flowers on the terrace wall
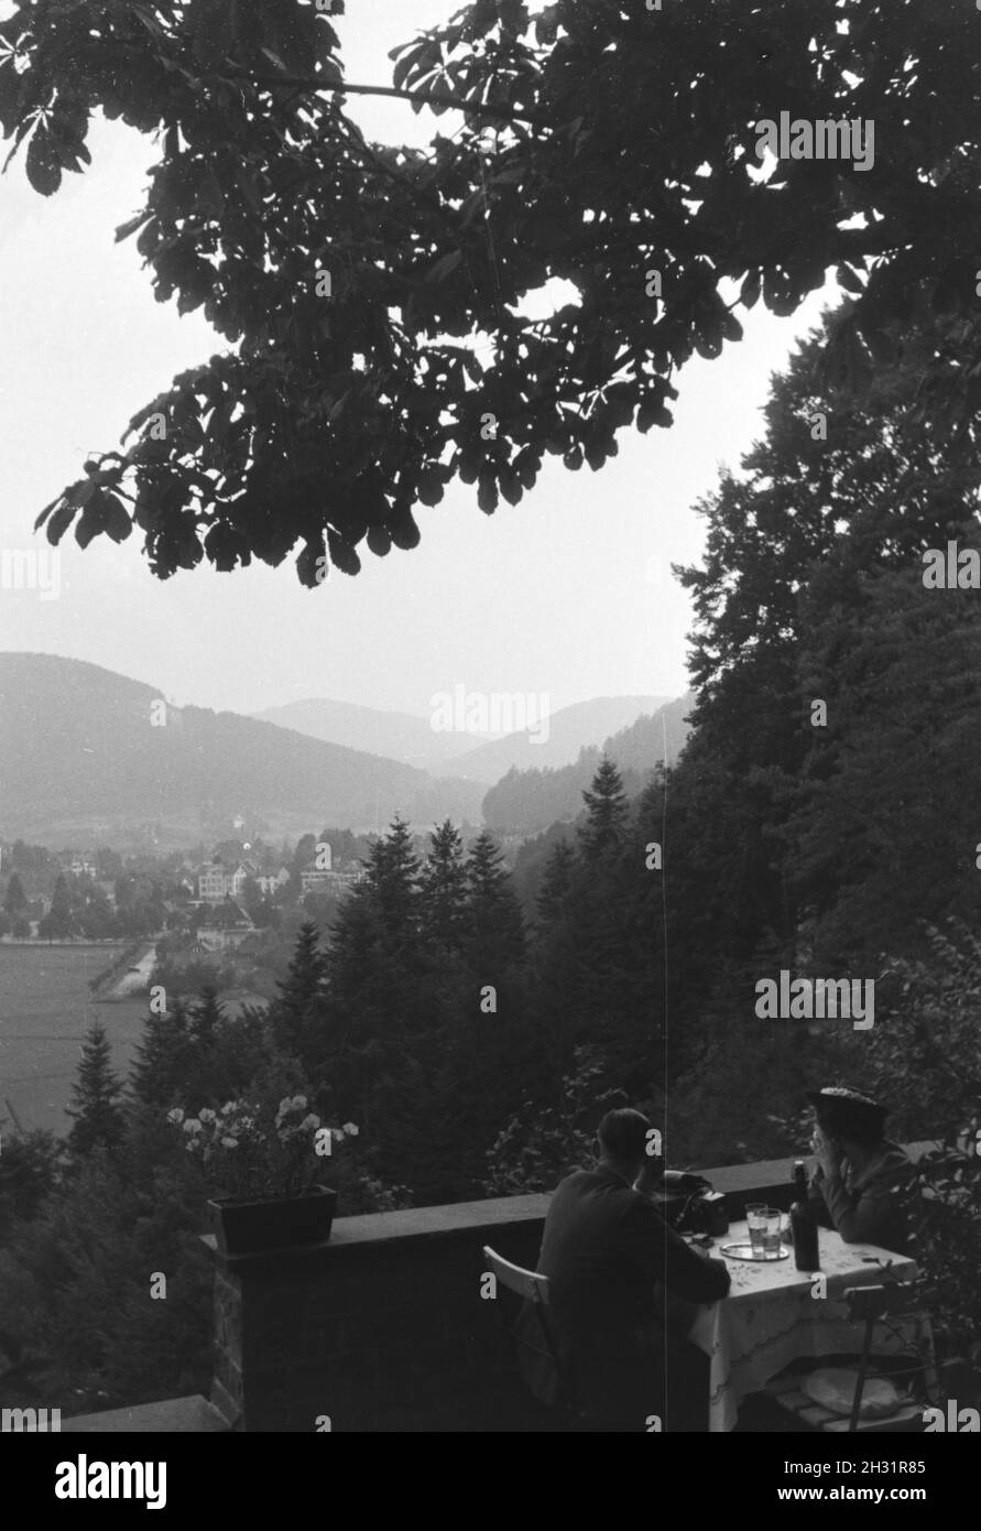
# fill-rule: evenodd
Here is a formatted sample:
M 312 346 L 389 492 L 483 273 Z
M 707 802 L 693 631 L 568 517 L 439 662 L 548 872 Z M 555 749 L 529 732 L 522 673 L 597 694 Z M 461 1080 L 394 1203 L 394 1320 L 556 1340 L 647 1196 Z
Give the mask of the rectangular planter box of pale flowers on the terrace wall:
M 309 1196 L 335 1142 L 357 1138 L 354 1122 L 326 1127 L 308 1110 L 305 1095 L 285 1096 L 275 1118 L 249 1101 L 227 1101 L 188 1116 L 179 1105 L 167 1121 L 185 1134 L 185 1150 L 200 1165 L 210 1190 L 228 1202 Z

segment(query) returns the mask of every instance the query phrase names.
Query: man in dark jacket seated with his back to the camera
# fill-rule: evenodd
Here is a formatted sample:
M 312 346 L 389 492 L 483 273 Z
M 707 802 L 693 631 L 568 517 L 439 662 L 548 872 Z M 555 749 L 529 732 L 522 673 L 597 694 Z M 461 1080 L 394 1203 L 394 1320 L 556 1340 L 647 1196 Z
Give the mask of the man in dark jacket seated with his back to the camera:
M 728 1292 L 728 1271 L 686 1245 L 653 1205 L 661 1165 L 647 1157 L 647 1130 L 640 1112 L 608 1112 L 598 1164 L 552 1196 L 539 1272 L 580 1407 L 624 1430 L 644 1431 L 652 1415 L 663 1430 L 706 1430 L 709 1358 L 686 1343 L 693 1312 L 683 1301 L 669 1315 L 667 1294 L 713 1303 Z

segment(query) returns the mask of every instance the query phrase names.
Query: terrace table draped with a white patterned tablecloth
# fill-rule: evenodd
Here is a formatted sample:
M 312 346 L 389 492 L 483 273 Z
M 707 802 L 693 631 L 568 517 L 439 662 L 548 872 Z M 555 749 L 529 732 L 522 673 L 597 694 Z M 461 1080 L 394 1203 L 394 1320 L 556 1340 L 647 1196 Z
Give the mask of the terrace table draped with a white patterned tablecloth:
M 764 1392 L 791 1361 L 805 1356 L 857 1353 L 863 1324 L 849 1318 L 843 1294 L 851 1286 L 909 1281 L 917 1265 L 908 1255 L 871 1243 L 845 1243 L 839 1232 L 819 1228 L 819 1271 L 797 1271 L 793 1246 L 784 1258 L 741 1260 L 725 1245 L 748 1245 L 745 1222 L 712 1240 L 704 1252 L 725 1262 L 728 1295 L 699 1309 L 689 1340 L 710 1358 L 709 1430 L 733 1430 L 739 1404 Z M 704 1248 L 704 1246 L 701 1246 Z M 883 1268 L 891 1275 L 883 1277 Z M 823 1280 L 820 1280 L 823 1277 Z M 904 1314 L 875 1332 L 875 1352 L 929 1347 L 929 1317 Z

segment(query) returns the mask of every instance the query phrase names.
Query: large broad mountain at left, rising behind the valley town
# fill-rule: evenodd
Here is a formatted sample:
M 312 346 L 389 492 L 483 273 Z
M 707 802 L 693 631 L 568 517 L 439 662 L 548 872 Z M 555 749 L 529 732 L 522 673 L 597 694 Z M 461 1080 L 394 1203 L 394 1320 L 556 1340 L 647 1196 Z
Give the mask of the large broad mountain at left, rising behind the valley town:
M 156 718 L 156 721 L 155 721 Z M 479 822 L 479 788 L 162 692 L 83 660 L 0 654 L 0 833 L 64 844 L 153 824 L 187 844 L 236 813 L 268 833 L 396 813 Z

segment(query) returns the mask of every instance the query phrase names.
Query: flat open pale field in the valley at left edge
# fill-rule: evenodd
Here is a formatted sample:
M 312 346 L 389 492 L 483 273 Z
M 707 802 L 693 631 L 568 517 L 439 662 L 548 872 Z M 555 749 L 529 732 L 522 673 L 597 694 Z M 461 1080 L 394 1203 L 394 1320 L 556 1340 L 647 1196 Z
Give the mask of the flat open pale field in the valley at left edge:
M 9 1101 L 24 1128 L 66 1131 L 64 1115 L 86 1027 L 98 1020 L 125 1073 L 139 1040 L 147 1000 L 95 1004 L 89 978 L 124 946 L 47 946 L 0 942 L 0 1118 Z

